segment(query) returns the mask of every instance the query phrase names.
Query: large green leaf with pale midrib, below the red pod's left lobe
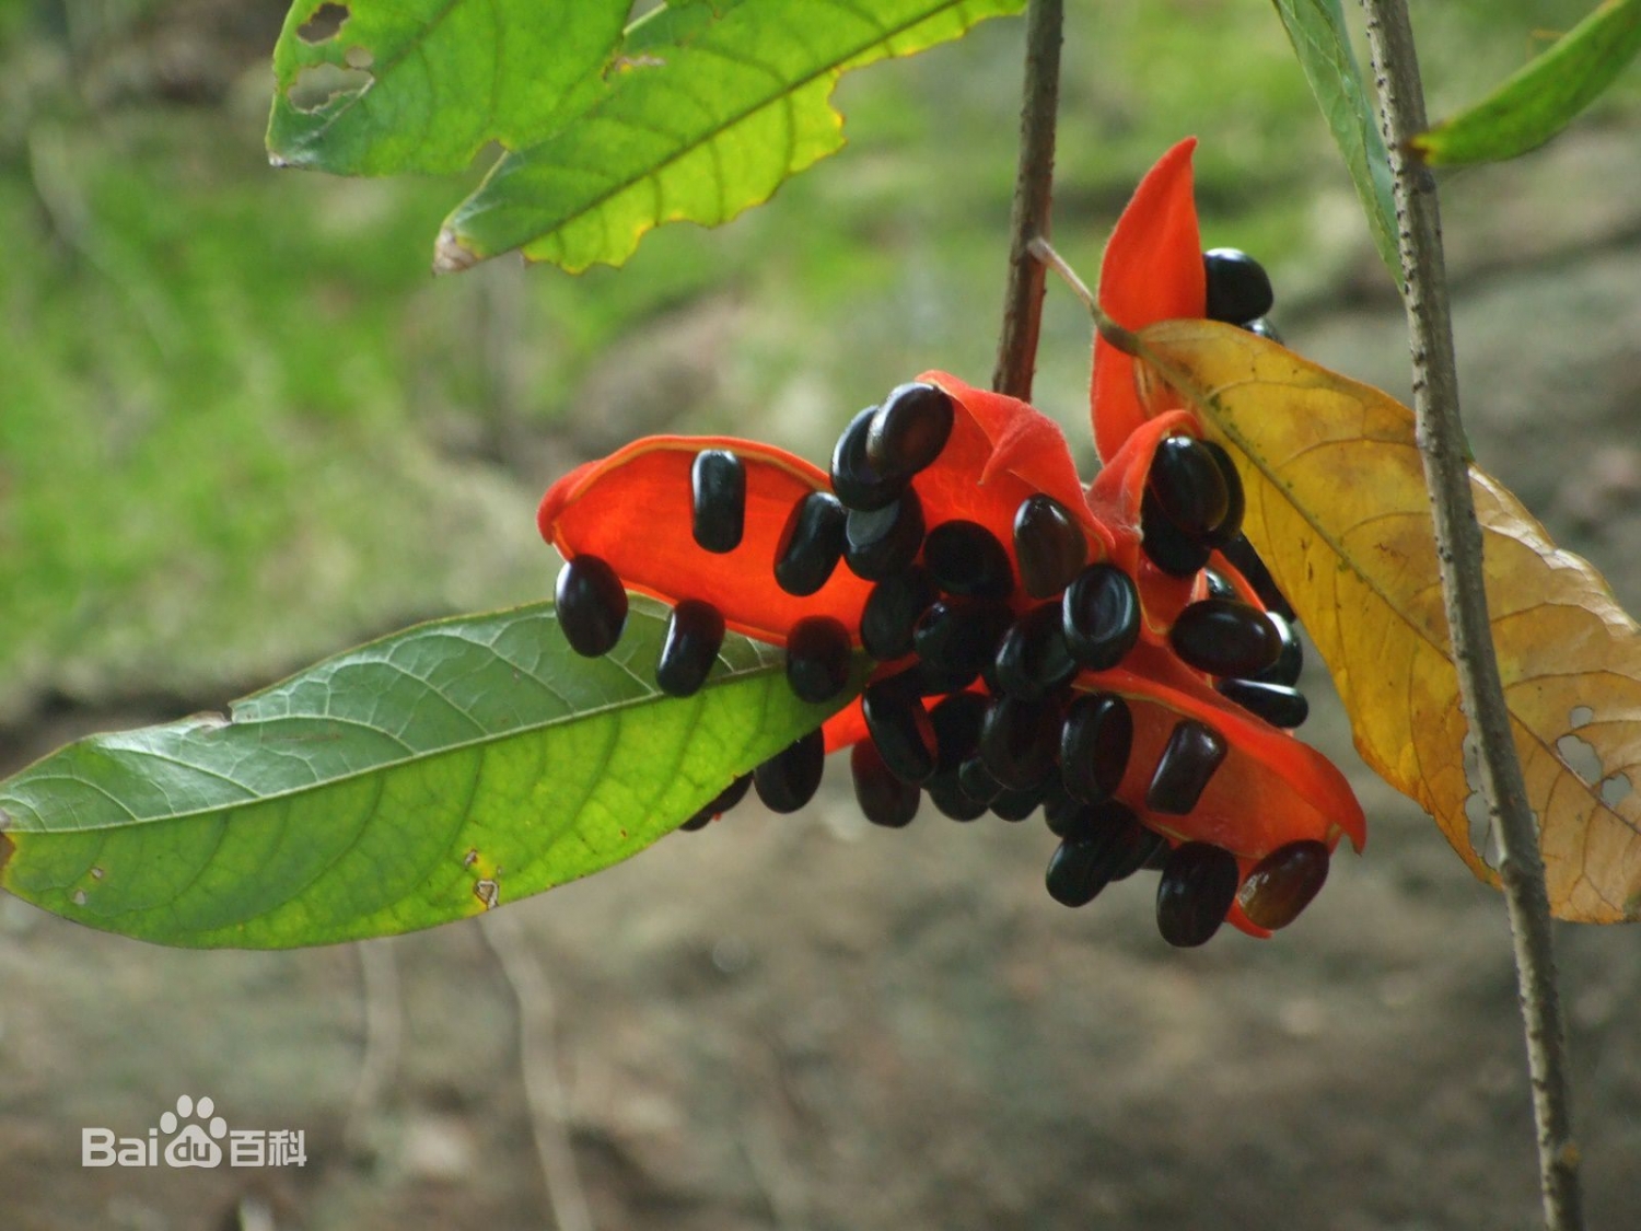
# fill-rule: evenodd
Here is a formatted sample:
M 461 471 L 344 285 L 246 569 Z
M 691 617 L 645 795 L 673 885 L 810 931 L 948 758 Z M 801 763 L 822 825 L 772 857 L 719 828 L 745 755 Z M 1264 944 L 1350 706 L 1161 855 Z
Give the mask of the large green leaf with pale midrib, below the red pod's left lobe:
M 551 604 L 423 624 L 231 716 L 95 735 L 0 783 L 0 886 L 174 945 L 407 932 L 609 867 L 845 704 L 730 634 L 696 696 L 651 684 L 666 609 L 581 658 Z M 857 688 L 865 671 L 857 671 Z

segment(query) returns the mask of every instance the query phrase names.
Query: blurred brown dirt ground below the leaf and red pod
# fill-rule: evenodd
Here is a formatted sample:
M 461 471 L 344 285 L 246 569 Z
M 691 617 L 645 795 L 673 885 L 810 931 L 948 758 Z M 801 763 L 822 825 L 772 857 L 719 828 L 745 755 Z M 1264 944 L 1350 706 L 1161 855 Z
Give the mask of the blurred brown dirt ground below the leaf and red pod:
M 1602 141 L 1528 189 L 1465 177 L 1451 228 L 1475 451 L 1638 609 L 1641 169 Z M 1582 208 L 1580 174 L 1605 189 Z M 1533 192 L 1570 202 L 1549 231 L 1510 223 Z M 1382 300 L 1283 325 L 1405 389 Z M 1305 686 L 1303 734 L 1354 763 L 1314 666 Z M 220 699 L 43 712 L 0 773 Z M 533 1100 L 556 1198 L 579 1188 L 599 1228 L 1526 1231 L 1503 903 L 1352 776 L 1367 853 L 1278 939 L 1191 952 L 1140 878 L 1052 903 L 1040 819 L 875 831 L 842 767 L 796 817 L 748 804 L 487 924 L 369 945 L 176 952 L 3 899 L 0 1228 L 551 1226 Z M 1590 1226 L 1633 1228 L 1641 940 L 1557 940 Z M 302 1129 L 305 1165 L 79 1165 L 82 1128 L 144 1136 L 179 1095 Z

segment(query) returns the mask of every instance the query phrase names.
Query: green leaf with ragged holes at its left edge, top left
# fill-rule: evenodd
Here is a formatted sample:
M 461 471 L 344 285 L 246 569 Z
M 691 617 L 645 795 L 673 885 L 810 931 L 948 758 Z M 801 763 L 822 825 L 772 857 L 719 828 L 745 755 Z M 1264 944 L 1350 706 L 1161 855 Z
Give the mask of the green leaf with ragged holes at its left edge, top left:
M 267 151 L 286 166 L 382 176 L 461 171 L 486 141 L 533 144 L 604 92 L 629 8 L 295 0 L 274 46 Z

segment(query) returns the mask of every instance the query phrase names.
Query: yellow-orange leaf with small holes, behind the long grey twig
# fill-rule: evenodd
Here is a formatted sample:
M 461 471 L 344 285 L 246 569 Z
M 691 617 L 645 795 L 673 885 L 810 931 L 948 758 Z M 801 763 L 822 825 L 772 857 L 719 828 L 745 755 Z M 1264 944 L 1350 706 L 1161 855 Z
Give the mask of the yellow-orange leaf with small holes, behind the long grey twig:
M 1497 844 L 1465 773 L 1467 724 L 1413 414 L 1231 325 L 1163 322 L 1140 330 L 1136 343 L 1139 358 L 1236 456 L 1247 537 L 1328 663 L 1364 760 L 1436 819 L 1477 876 L 1497 885 Z M 1636 919 L 1638 627 L 1600 573 L 1557 550 L 1520 501 L 1475 466 L 1470 491 L 1551 909 L 1580 922 Z

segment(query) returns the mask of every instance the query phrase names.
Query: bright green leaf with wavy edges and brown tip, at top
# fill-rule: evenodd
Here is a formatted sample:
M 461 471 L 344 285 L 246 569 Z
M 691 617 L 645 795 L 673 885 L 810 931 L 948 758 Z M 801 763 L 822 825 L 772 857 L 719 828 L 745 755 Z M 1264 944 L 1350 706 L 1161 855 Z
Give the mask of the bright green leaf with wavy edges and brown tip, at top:
M 620 264 L 663 222 L 727 222 L 843 144 L 839 77 L 957 38 L 1024 0 L 758 0 L 684 44 L 648 43 L 546 141 L 507 154 L 446 220 L 433 266 L 522 248 Z

